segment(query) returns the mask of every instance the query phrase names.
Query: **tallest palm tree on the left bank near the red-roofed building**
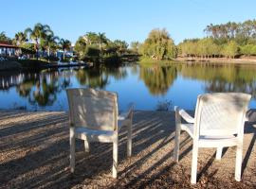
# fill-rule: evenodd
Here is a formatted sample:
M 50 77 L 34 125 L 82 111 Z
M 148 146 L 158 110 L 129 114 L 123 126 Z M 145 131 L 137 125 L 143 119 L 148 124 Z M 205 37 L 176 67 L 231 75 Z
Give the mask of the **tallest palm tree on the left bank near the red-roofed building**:
M 43 39 L 46 39 L 47 35 L 53 35 L 52 30 L 47 25 L 42 25 L 40 23 L 36 24 L 33 29 L 27 27 L 25 30 L 25 34 L 29 34 L 29 39 L 34 41 L 35 43 L 35 50 L 36 50 L 36 57 L 38 59 L 38 49 L 39 44 Z

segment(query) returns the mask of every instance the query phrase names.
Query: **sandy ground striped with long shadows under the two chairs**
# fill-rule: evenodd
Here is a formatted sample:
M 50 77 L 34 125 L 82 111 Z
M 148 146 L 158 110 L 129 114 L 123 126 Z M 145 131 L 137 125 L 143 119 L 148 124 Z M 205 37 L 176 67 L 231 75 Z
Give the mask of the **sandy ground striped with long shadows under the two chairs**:
M 245 127 L 243 178 L 234 180 L 235 147 L 199 150 L 198 183 L 190 184 L 192 140 L 181 134 L 174 163 L 174 112 L 135 112 L 133 157 L 126 158 L 126 129 L 119 134 L 119 179 L 112 179 L 112 145 L 77 141 L 70 174 L 65 112 L 0 112 L 0 188 L 256 188 L 256 111 Z

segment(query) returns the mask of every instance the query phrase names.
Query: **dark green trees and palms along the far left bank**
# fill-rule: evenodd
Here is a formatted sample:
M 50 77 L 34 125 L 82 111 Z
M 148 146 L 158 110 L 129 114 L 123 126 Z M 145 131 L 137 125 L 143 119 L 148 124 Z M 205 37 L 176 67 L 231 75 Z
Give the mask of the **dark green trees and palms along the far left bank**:
M 128 43 L 121 40 L 111 41 L 105 33 L 87 32 L 79 37 L 75 46 L 72 46 L 70 41 L 55 36 L 50 26 L 40 23 L 17 32 L 13 39 L 4 31 L 0 32 L 0 43 L 19 46 L 22 50 L 21 55 L 35 56 L 41 60 L 58 60 L 58 50 L 64 52 L 62 60 L 69 61 L 65 54 L 67 51 L 73 51 L 75 55 L 73 60 L 93 61 L 95 65 L 102 62 L 119 63 L 122 60 L 137 60 L 137 52 L 129 49 Z

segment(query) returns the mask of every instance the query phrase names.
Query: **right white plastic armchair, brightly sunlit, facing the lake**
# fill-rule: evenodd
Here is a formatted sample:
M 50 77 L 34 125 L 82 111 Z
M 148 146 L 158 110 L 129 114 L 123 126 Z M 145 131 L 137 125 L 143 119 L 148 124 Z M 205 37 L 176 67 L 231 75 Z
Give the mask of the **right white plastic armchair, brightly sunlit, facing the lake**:
M 174 107 L 175 147 L 174 160 L 178 162 L 180 131 L 192 137 L 192 184 L 196 183 L 199 147 L 216 147 L 216 159 L 220 160 L 225 146 L 237 146 L 235 180 L 241 180 L 244 124 L 250 94 L 216 93 L 202 94 L 197 98 L 194 118 L 184 110 Z M 181 122 L 183 118 L 187 124 Z

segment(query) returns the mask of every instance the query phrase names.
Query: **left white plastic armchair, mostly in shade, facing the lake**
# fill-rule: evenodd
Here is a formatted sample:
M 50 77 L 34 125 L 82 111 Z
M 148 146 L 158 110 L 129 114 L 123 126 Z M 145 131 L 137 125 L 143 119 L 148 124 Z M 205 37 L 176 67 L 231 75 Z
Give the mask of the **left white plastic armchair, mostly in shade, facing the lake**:
M 132 155 L 133 107 L 118 115 L 115 93 L 94 89 L 67 89 L 70 121 L 70 169 L 75 170 L 75 138 L 90 142 L 113 143 L 113 178 L 118 176 L 119 129 L 127 126 L 127 155 Z

